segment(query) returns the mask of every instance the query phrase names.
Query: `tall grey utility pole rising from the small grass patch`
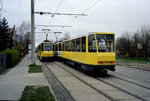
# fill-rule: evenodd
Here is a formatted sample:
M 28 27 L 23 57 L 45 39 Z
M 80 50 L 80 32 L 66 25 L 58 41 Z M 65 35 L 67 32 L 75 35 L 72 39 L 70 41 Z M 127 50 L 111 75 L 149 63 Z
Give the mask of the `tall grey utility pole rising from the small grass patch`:
M 31 60 L 35 65 L 34 0 L 31 0 Z

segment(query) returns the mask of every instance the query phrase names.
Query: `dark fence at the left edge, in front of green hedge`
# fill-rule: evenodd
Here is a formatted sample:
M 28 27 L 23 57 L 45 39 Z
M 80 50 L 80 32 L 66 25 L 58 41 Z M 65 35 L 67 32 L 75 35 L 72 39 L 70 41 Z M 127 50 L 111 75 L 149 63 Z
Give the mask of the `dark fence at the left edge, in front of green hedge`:
M 8 54 L 0 53 L 0 73 L 7 68 Z

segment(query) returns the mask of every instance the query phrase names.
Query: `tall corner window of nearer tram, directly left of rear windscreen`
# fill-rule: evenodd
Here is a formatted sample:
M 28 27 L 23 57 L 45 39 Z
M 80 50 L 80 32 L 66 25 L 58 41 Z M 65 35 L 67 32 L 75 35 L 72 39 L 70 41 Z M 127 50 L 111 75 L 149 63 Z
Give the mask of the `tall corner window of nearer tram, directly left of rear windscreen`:
M 96 52 L 95 35 L 89 35 L 88 41 L 89 52 Z

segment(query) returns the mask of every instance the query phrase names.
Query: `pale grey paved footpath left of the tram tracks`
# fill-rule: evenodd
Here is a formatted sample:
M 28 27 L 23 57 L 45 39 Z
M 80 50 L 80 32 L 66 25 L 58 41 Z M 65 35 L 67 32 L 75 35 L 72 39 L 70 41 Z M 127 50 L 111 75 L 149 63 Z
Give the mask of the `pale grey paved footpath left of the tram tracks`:
M 28 73 L 29 64 L 27 55 L 6 75 L 0 75 L 0 100 L 19 100 L 26 85 L 48 85 L 43 73 Z

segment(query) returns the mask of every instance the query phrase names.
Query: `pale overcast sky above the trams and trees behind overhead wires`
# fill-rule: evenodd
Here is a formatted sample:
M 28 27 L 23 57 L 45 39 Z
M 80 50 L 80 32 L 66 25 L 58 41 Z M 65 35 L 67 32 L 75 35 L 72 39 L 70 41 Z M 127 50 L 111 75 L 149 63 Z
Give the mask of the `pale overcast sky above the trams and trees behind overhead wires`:
M 60 2 L 60 7 L 58 8 Z M 81 14 L 98 0 L 36 0 L 35 11 Z M 3 0 L 3 12 L 10 27 L 19 26 L 23 20 L 30 22 L 30 0 Z M 58 8 L 58 9 L 57 9 Z M 56 11 L 57 9 L 57 11 Z M 35 25 L 69 25 L 72 27 L 47 27 L 51 32 L 59 31 L 58 38 L 69 33 L 71 38 L 89 32 L 112 32 L 116 38 L 122 33 L 135 32 L 142 25 L 150 25 L 150 0 L 101 0 L 84 12 L 88 16 L 35 15 Z M 46 27 L 36 27 L 41 32 Z M 36 46 L 45 40 L 44 33 L 35 33 Z M 48 39 L 55 40 L 50 33 Z

